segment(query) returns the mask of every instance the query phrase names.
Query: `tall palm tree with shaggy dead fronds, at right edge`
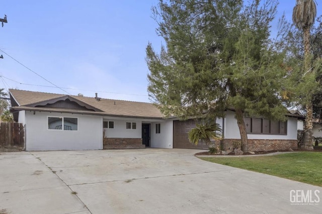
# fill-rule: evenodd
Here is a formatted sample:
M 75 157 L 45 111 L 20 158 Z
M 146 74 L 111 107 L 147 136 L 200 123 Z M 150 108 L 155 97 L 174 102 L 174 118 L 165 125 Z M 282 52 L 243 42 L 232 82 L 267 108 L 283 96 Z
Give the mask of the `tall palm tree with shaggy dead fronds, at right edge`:
M 303 31 L 304 41 L 304 72 L 308 72 L 311 68 L 310 60 L 310 29 L 314 24 L 316 17 L 316 5 L 314 0 L 296 0 L 293 9 L 293 23 Z M 312 128 L 313 128 L 313 105 L 312 101 L 306 102 L 306 120 L 303 148 L 313 150 L 312 146 Z

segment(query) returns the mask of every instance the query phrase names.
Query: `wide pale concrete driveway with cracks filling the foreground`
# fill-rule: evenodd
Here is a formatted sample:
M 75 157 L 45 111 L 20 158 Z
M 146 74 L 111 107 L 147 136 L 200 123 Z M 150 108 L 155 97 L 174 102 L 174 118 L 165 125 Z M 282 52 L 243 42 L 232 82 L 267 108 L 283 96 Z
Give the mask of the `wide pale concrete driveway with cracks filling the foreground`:
M 320 187 L 202 161 L 197 152 L 1 153 L 0 213 L 321 213 Z M 319 190 L 320 201 L 294 204 L 291 190 Z

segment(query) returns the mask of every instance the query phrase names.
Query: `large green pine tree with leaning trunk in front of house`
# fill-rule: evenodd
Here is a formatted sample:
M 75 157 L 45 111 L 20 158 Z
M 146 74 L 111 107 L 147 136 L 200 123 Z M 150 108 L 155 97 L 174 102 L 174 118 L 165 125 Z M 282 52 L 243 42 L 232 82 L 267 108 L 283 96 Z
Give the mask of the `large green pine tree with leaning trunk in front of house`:
M 153 16 L 166 47 L 160 53 L 146 47 L 151 99 L 164 114 L 183 119 L 223 117 L 233 108 L 247 152 L 245 114 L 285 120 L 283 46 L 270 38 L 276 6 L 274 0 L 160 0 Z

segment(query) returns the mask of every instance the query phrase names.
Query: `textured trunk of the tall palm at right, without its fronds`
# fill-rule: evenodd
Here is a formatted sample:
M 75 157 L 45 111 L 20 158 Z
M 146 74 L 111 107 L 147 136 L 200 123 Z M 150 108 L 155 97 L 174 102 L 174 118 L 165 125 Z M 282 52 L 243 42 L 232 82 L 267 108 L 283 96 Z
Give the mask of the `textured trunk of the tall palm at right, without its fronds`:
M 311 68 L 310 60 L 310 28 L 304 28 L 304 73 Z M 302 149 L 313 150 L 312 146 L 312 128 L 313 128 L 313 105 L 311 97 L 306 103 L 305 130 Z

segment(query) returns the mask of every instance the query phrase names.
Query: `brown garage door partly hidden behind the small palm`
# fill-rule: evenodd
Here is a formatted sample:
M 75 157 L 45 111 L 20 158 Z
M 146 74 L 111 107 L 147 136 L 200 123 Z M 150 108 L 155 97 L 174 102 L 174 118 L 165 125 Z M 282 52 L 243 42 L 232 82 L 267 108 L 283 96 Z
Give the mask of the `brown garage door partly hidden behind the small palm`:
M 208 149 L 203 141 L 199 141 L 198 145 L 189 142 L 188 133 L 196 127 L 194 120 L 174 121 L 174 148 L 177 149 Z

